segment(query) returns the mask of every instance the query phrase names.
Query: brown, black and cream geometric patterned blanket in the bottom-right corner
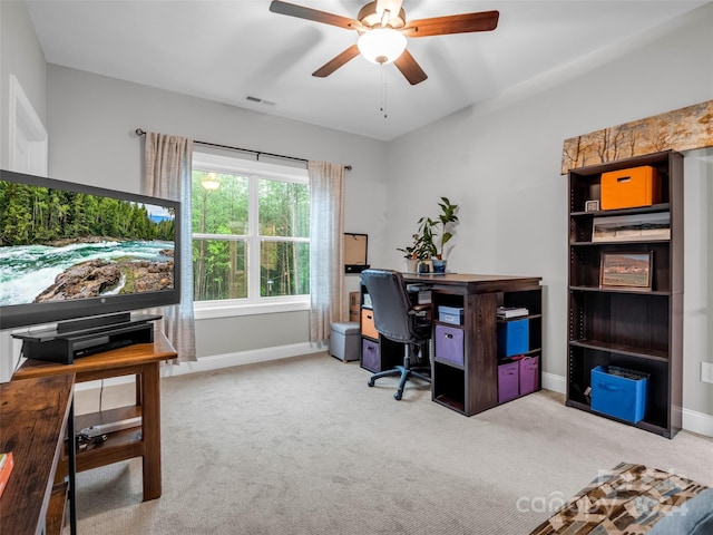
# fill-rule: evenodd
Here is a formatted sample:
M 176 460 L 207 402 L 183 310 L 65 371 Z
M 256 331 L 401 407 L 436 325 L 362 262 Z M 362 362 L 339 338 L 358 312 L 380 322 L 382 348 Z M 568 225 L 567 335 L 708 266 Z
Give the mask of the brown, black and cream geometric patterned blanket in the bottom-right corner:
M 642 535 L 707 487 L 622 463 L 603 473 L 530 535 Z

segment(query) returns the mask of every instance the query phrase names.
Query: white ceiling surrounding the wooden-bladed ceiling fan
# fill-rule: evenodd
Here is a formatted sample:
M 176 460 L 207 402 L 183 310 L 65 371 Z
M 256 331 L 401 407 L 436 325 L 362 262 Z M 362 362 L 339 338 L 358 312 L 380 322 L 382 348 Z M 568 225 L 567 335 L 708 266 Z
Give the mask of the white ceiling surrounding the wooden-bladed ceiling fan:
M 367 1 L 293 3 L 356 18 Z M 361 57 L 328 78 L 312 77 L 354 43 L 356 32 L 273 13 L 270 0 L 27 0 L 50 64 L 382 140 L 704 3 L 404 0 L 407 20 L 500 11 L 495 31 L 409 39 L 409 51 L 429 77 L 411 86 L 393 65 L 380 67 Z M 255 104 L 248 96 L 273 104 Z

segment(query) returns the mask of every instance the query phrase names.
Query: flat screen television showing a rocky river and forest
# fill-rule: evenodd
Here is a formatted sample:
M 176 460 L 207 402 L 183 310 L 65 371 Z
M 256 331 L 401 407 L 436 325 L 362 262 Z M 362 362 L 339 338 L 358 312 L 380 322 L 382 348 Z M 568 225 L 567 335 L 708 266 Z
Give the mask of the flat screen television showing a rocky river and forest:
M 178 303 L 179 212 L 174 201 L 0 171 L 0 329 Z

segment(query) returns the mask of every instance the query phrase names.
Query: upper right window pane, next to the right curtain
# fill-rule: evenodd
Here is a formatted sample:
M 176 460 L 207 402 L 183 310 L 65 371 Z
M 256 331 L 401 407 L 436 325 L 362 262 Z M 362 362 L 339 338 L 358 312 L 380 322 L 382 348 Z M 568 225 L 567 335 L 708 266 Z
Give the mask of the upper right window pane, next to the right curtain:
M 310 186 L 260 179 L 260 234 L 310 237 Z

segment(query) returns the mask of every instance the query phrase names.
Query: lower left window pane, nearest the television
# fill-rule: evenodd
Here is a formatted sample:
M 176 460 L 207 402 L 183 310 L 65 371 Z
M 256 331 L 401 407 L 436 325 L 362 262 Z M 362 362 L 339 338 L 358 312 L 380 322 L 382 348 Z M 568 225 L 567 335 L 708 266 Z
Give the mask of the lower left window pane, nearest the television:
M 193 240 L 193 290 L 196 301 L 247 298 L 245 242 Z

